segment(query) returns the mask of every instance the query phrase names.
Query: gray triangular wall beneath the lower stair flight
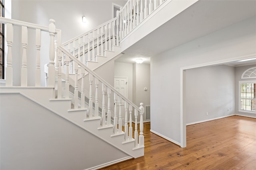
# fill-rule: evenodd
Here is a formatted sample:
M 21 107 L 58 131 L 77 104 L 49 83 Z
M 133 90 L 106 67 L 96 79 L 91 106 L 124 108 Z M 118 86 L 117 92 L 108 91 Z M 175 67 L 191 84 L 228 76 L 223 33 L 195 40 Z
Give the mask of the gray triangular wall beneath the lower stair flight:
M 84 170 L 128 156 L 20 94 L 1 94 L 0 113 L 1 170 Z

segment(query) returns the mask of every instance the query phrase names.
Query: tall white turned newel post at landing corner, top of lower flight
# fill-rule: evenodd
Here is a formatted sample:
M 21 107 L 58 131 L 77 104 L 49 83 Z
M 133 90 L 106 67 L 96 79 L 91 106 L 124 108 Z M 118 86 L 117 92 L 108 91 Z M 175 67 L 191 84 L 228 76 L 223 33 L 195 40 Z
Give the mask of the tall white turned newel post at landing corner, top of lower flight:
M 49 24 L 49 34 L 50 34 L 50 50 L 49 50 L 49 58 L 50 62 L 48 64 L 48 87 L 55 86 L 55 66 L 54 66 L 54 58 L 55 58 L 55 47 L 54 47 L 54 37 L 55 37 L 55 21 L 50 19 Z

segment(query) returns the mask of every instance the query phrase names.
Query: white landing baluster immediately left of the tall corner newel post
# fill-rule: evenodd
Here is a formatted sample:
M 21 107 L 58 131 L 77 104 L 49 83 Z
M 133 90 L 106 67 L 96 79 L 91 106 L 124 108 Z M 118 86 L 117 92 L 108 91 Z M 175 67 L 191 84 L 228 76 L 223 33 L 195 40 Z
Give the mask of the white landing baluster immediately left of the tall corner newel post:
M 41 68 L 40 68 L 40 49 L 41 49 L 41 29 L 36 29 L 36 77 L 35 86 L 41 86 Z

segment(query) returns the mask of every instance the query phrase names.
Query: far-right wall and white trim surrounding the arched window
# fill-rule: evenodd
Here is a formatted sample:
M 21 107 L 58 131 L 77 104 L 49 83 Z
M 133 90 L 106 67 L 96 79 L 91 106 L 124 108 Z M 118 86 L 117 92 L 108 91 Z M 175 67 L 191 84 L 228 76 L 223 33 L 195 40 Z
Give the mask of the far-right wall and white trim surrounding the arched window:
M 238 99 L 238 92 L 239 92 L 239 81 L 248 81 L 248 80 L 256 80 L 256 78 L 250 78 L 250 79 L 241 79 L 242 74 L 244 73 L 245 70 L 247 70 L 248 68 L 252 68 L 255 67 L 256 64 L 254 65 L 249 65 L 249 66 L 240 66 L 240 67 L 236 67 L 235 69 L 235 75 L 236 75 L 236 108 L 235 108 L 235 113 L 238 115 L 244 115 L 244 116 L 250 116 L 250 117 L 255 117 L 256 115 L 253 113 L 244 113 L 244 112 L 239 112 L 238 111 L 238 107 L 239 107 L 239 99 Z

